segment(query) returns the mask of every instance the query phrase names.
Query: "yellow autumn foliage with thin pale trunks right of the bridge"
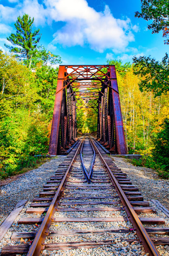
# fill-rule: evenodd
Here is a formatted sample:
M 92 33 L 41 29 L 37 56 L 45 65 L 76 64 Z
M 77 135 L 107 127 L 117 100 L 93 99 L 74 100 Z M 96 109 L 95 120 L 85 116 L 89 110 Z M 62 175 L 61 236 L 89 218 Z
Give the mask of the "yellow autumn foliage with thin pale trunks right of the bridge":
M 127 147 L 130 153 L 151 154 L 151 135 L 169 118 L 169 93 L 155 98 L 152 92 L 141 92 L 132 68 L 124 77 L 117 73 L 117 79 Z

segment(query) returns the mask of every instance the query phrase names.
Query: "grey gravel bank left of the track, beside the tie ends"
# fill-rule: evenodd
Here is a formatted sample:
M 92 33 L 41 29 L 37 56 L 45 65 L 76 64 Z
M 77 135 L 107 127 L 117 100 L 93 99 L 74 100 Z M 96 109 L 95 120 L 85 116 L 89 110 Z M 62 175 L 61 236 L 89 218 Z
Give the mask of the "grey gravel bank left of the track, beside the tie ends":
M 32 201 L 38 195 L 43 185 L 55 174 L 57 166 L 64 159 L 65 156 L 52 159 L 39 168 L 24 173 L 18 176 L 16 180 L 0 187 L 2 189 L 0 193 L 0 224 L 20 200 Z

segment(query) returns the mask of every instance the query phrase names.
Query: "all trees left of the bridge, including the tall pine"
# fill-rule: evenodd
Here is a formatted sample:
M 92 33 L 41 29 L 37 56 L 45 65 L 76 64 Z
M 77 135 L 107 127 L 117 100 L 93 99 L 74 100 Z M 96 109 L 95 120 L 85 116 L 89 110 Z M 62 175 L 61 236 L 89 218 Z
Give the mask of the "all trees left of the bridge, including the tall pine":
M 16 34 L 7 38 L 14 47 L 6 45 L 16 54 L 0 51 L 0 178 L 35 167 L 39 159 L 34 155 L 48 152 L 58 76 L 54 66 L 61 58 L 37 46 L 41 35 L 39 29 L 32 32 L 33 23 L 34 18 L 19 16 Z

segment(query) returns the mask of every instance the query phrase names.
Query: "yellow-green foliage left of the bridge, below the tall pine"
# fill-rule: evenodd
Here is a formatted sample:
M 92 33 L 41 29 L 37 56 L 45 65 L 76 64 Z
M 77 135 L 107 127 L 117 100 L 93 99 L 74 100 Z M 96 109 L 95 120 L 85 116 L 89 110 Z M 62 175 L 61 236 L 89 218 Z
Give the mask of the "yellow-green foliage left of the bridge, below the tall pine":
M 0 178 L 35 167 L 47 154 L 58 69 L 32 73 L 14 56 L 0 55 Z

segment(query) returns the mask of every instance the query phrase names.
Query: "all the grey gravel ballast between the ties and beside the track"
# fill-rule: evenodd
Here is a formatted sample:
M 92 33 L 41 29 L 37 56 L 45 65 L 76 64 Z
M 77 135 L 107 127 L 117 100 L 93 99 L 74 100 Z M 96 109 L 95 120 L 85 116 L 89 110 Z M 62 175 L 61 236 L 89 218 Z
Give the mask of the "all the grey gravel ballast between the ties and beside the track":
M 22 225 L 18 224 L 17 221 L 20 218 L 32 218 L 32 217 L 44 217 L 44 214 L 28 214 L 25 212 L 25 210 L 30 207 L 31 201 L 34 197 L 37 197 L 40 191 L 42 191 L 43 185 L 46 183 L 46 181 L 51 177 L 51 175 L 55 175 L 56 169 L 59 166 L 60 163 L 63 162 L 65 157 L 59 157 L 58 159 L 52 159 L 50 162 L 43 164 L 41 167 L 38 169 L 32 170 L 31 172 L 28 172 L 20 177 L 18 177 L 17 180 L 9 183 L 8 185 L 2 186 L 2 195 L 0 195 L 1 200 L 3 200 L 3 207 L 1 208 L 2 213 L 0 213 L 0 217 L 5 218 L 6 215 L 8 215 L 6 212 L 10 213 L 11 209 L 15 207 L 18 201 L 21 199 L 28 199 L 28 203 L 25 205 L 23 210 L 20 212 L 20 215 L 16 218 L 14 221 L 14 224 L 11 226 L 11 228 L 8 230 L 6 235 L 4 236 L 4 239 L 0 242 L 0 247 L 3 247 L 5 245 L 23 245 L 29 243 L 27 241 L 28 239 L 22 239 L 20 241 L 11 241 L 11 234 L 14 231 L 37 231 L 39 229 L 40 225 L 34 224 L 34 225 Z M 116 161 L 116 158 L 115 158 Z M 118 158 L 118 161 L 119 158 Z M 104 170 L 101 161 L 98 159 L 98 156 L 96 157 L 96 165 L 93 170 L 93 179 L 97 178 L 98 173 L 101 175 L 106 176 L 108 179 L 108 175 L 106 171 Z M 146 176 L 146 171 L 143 173 L 140 173 L 140 167 L 135 167 L 132 166 L 130 163 L 127 163 L 125 159 L 122 159 L 120 163 L 116 163 L 119 168 L 122 169 L 123 172 L 127 173 L 127 176 L 130 177 L 131 181 L 133 184 L 137 185 L 139 187 L 140 191 L 143 192 L 144 195 L 144 200 L 151 200 L 153 197 L 151 197 L 151 194 L 148 193 L 152 189 L 152 183 L 153 183 L 153 178 L 150 179 L 149 176 L 151 176 L 151 173 L 149 176 Z M 129 166 L 128 166 L 129 165 Z M 90 165 L 89 165 L 90 166 Z M 132 169 L 134 168 L 134 170 Z M 126 168 L 127 171 L 126 171 Z M 135 169 L 138 169 L 137 171 Z M 147 168 L 145 168 L 147 169 Z M 60 171 L 60 169 L 59 169 Z M 58 171 L 58 172 L 59 172 Z M 131 172 L 131 174 L 129 174 Z M 149 169 L 147 170 L 149 172 Z M 134 175 L 135 174 L 135 175 Z M 84 202 L 84 201 L 97 201 L 98 199 L 78 199 L 78 197 L 83 197 L 84 196 L 113 196 L 115 198 L 113 199 L 108 199 L 108 201 L 118 201 L 117 197 L 117 192 L 115 191 L 114 187 L 109 187 L 108 191 L 104 190 L 101 188 L 101 185 L 103 184 L 98 183 L 98 184 L 81 184 L 81 183 L 74 183 L 74 188 L 71 188 L 71 185 L 73 185 L 73 180 L 76 179 L 76 175 L 79 175 L 79 180 L 84 180 L 84 174 L 82 172 L 82 166 L 80 163 L 80 157 L 77 157 L 77 160 L 75 164 L 73 165 L 72 171 L 70 172 L 69 176 L 69 181 L 66 184 L 63 197 L 60 199 L 61 203 L 67 203 L 69 202 L 69 205 L 62 206 L 59 205 L 58 208 L 62 207 L 68 207 L 68 208 L 85 208 L 85 207 L 121 207 L 122 204 L 119 203 L 115 206 L 113 205 L 73 205 L 71 203 L 73 202 Z M 131 175 L 131 176 L 130 176 Z M 144 180 L 150 180 L 150 183 L 146 183 L 145 194 L 143 190 L 143 185 L 141 185 L 141 179 Z M 140 180 L 137 181 L 137 178 Z M 145 183 L 145 181 L 143 182 Z M 155 180 L 156 181 L 156 180 Z M 138 182 L 138 183 L 135 183 Z M 168 181 L 167 181 L 168 182 Z M 81 188 L 80 186 L 86 186 L 85 189 Z M 138 186 L 140 185 L 140 186 Z M 78 187 L 79 186 L 79 187 Z M 107 186 L 107 183 L 104 183 L 104 187 Z M 157 193 L 157 184 L 155 183 L 156 186 L 156 194 L 159 195 L 159 192 Z M 99 189 L 96 189 L 99 187 Z M 90 188 L 90 189 L 89 189 Z M 8 195 L 6 195 L 8 193 Z M 155 193 L 155 191 L 154 191 Z M 149 197 L 148 197 L 149 195 Z M 67 199 L 69 197 L 72 197 L 73 199 Z M 154 197 L 155 198 L 155 197 Z M 159 197 L 156 197 L 155 199 L 159 199 Z M 99 201 L 99 200 L 98 200 Z M 104 198 L 104 200 L 101 201 L 107 201 L 107 198 Z M 163 202 L 161 202 L 163 204 Z M 5 205 L 6 204 L 6 205 Z M 151 203 L 151 206 L 155 207 L 155 204 Z M 6 210 L 3 211 L 3 209 Z M 73 211 L 62 211 L 62 212 L 55 212 L 54 215 L 55 218 L 93 218 L 93 217 L 127 217 L 126 212 L 124 212 L 124 209 L 120 211 L 78 211 L 78 212 L 73 212 Z M 157 213 L 141 213 L 139 214 L 139 217 L 163 217 L 166 221 L 166 224 L 164 225 L 151 225 L 152 227 L 169 227 L 169 218 L 166 217 L 159 209 L 157 210 Z M 149 226 L 149 225 L 144 225 L 144 226 Z M 105 221 L 86 221 L 86 222 L 71 222 L 71 221 L 61 221 L 61 222 L 52 222 L 49 231 L 66 231 L 66 230 L 97 230 L 97 229 L 105 229 L 105 228 L 127 228 L 131 229 L 130 233 L 101 233 L 101 234 L 84 234 L 84 235 L 79 235 L 79 236 L 47 236 L 45 239 L 45 244 L 50 244 L 50 243 L 57 243 L 57 242 L 83 242 L 83 241 L 106 241 L 106 240 L 111 240 L 112 244 L 111 245 L 100 245 L 97 248 L 85 248 L 85 247 L 79 247 L 78 249 L 72 249 L 72 250 L 54 250 L 54 251 L 49 251 L 49 250 L 43 250 L 42 256 L 80 256 L 80 255 L 86 255 L 86 256 L 95 256 L 95 255 L 115 255 L 115 256 L 148 256 L 147 253 L 145 253 L 142 245 L 140 244 L 139 241 L 134 241 L 132 244 L 129 244 L 126 239 L 137 239 L 137 236 L 133 230 L 132 224 L 130 221 L 115 221 L 115 222 L 105 222 Z M 168 237 L 168 236 L 166 236 Z M 115 244 L 114 244 L 115 243 Z M 164 247 L 164 246 L 158 246 L 158 250 L 160 252 L 161 256 L 169 256 L 169 247 Z

